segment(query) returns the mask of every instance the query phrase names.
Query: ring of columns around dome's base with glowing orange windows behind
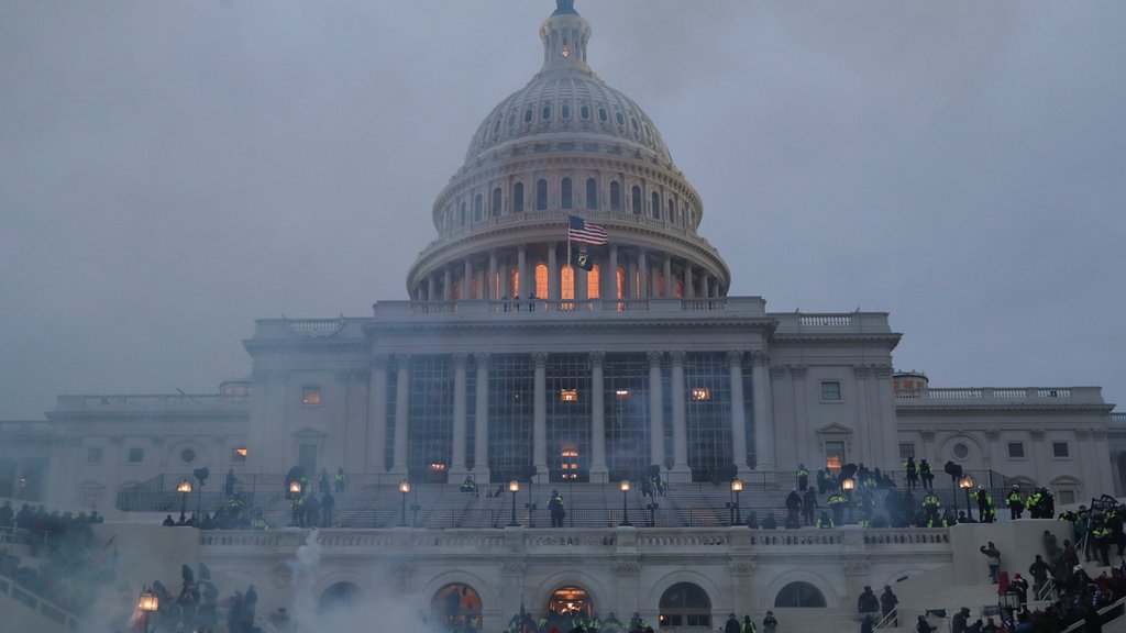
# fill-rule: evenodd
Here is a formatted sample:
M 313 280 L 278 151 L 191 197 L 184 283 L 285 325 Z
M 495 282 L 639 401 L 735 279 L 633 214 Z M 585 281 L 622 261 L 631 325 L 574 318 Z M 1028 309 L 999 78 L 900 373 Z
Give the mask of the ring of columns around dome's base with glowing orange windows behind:
M 572 260 L 578 256 L 579 248 L 578 243 L 571 244 Z M 420 279 L 411 296 L 415 301 L 456 301 L 498 300 L 516 295 L 528 297 L 535 294 L 539 298 L 582 301 L 599 297 L 712 298 L 726 293 L 718 276 L 687 258 L 642 247 L 608 244 L 583 248 L 599 274 L 597 277 L 575 275 L 573 289 L 563 287 L 563 271 L 568 266 L 566 242 L 547 242 L 493 249 L 488 255 L 454 260 Z M 546 295 L 543 288 L 536 292 L 536 269 L 540 266 L 546 275 Z M 574 270 L 581 273 L 577 267 Z M 605 274 L 608 270 L 618 271 L 622 278 Z M 513 271 L 515 282 L 510 277 Z M 599 287 L 589 287 L 590 278 L 597 278 Z

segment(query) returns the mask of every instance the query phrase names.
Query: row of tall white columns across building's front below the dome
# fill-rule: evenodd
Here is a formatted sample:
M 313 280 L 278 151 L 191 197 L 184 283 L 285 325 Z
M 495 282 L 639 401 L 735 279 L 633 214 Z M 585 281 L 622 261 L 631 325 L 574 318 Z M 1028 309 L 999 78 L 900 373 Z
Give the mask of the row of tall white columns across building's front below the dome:
M 606 383 L 604 367 L 606 353 L 590 351 L 590 481 L 605 482 L 609 469 L 606 460 L 606 419 L 605 398 Z M 547 460 L 547 353 L 531 353 L 533 375 L 533 446 L 531 462 L 536 467 L 537 478 L 546 481 L 548 476 Z M 649 457 L 652 464 L 665 463 L 665 421 L 662 364 L 668 363 L 671 372 L 670 400 L 672 412 L 672 465 L 667 475 L 670 481 L 690 481 L 691 470 L 688 464 L 687 433 L 687 385 L 685 383 L 683 350 L 649 351 Z M 452 455 L 448 467 L 450 481 L 456 481 L 468 474 L 481 482 L 490 481 L 489 472 L 489 353 L 456 353 L 452 355 L 453 366 L 453 438 Z M 759 350 L 729 350 L 726 353 L 729 381 L 731 386 L 731 462 L 741 475 L 750 471 L 747 460 L 747 411 L 743 393 L 743 362 L 751 360 L 753 402 L 753 429 L 757 464 L 756 470 L 774 470 L 774 428 L 770 416 L 769 359 Z M 410 425 L 410 356 L 405 354 L 377 354 L 372 362 L 369 402 L 370 455 L 372 467 L 376 472 L 390 472 L 399 476 L 408 473 L 408 438 Z M 476 424 L 474 445 L 467 446 L 467 412 L 468 412 L 468 372 L 475 373 L 474 419 Z M 392 419 L 387 419 L 387 385 L 390 375 L 395 374 L 395 407 Z M 386 429 L 392 425 L 393 449 L 392 463 L 386 463 Z M 468 469 L 467 453 L 473 452 L 473 469 Z

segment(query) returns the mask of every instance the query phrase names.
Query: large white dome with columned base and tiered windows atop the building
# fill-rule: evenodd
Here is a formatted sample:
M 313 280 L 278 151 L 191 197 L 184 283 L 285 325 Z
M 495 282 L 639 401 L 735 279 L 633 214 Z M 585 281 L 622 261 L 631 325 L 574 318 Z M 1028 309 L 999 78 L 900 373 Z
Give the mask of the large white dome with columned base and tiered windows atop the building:
M 557 0 L 539 36 L 543 68 L 484 118 L 435 200 L 438 239 L 411 266 L 411 298 L 725 296 L 727 265 L 697 233 L 699 194 L 653 121 L 591 70 L 590 24 Z M 605 243 L 574 248 L 570 217 Z

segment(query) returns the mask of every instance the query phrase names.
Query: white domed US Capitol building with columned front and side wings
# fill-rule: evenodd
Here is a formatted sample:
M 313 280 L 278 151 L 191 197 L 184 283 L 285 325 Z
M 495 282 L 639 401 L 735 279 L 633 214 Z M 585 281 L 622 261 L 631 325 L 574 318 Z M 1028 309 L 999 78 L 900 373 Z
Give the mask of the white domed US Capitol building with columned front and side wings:
M 1097 386 L 931 387 L 894 369 L 887 313 L 730 296 L 732 271 L 698 233 L 700 196 L 650 117 L 589 65 L 590 24 L 561 1 L 539 35 L 542 70 L 489 113 L 438 194 L 405 301 L 259 320 L 250 377 L 218 393 L 62 395 L 45 421 L 0 422 L 0 497 L 97 509 L 106 527 L 159 523 L 184 502 L 178 481 L 209 470 L 187 497 L 206 510 L 231 471 L 278 525 L 182 531 L 198 537 L 178 546 L 218 578 L 257 580 L 262 608 L 298 590 L 419 608 L 462 591 L 491 631 L 521 603 L 692 631 L 731 610 L 850 610 L 863 586 L 906 578 L 903 600 L 912 577 L 984 569 L 959 562 L 980 543 L 954 529 L 762 536 L 730 520 L 736 476 L 734 505 L 760 518 L 798 464 L 902 476 L 906 457 L 926 458 L 949 488 L 951 462 L 1062 503 L 1121 491 L 1126 419 Z M 569 239 L 571 216 L 605 240 Z M 347 479 L 341 527 L 319 531 L 321 568 L 304 581 L 285 564 L 307 540 L 283 528 L 294 466 Z M 655 472 L 668 497 L 641 496 Z M 459 492 L 467 478 L 477 494 Z M 563 529 L 547 527 L 552 489 Z

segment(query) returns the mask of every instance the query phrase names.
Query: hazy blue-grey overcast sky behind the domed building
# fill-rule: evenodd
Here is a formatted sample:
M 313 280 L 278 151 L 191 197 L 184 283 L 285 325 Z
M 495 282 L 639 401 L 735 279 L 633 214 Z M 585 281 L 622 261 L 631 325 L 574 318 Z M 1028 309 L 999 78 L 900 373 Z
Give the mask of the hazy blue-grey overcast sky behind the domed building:
M 1126 2 L 579 0 L 731 294 L 891 312 L 932 386 L 1126 402 Z M 211 393 L 405 298 L 551 0 L 0 0 L 0 419 Z

